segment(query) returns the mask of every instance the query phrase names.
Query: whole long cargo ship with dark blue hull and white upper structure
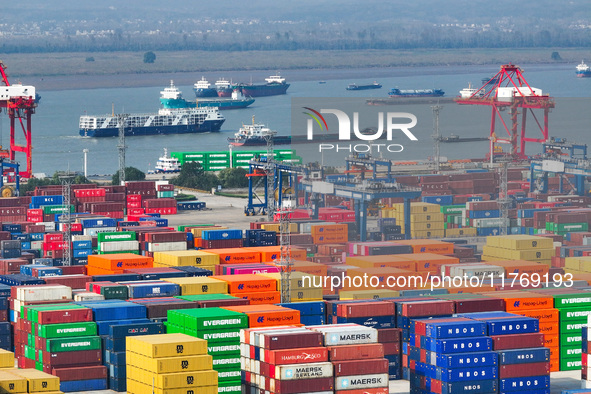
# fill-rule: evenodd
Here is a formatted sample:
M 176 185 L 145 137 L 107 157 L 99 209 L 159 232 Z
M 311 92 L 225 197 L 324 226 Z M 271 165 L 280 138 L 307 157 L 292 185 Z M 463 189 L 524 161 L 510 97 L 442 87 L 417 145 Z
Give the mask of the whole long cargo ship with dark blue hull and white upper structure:
M 125 135 L 190 134 L 220 131 L 226 119 L 217 107 L 161 108 L 157 113 L 127 116 Z M 80 117 L 82 137 L 116 137 L 119 135 L 117 115 L 83 115 Z

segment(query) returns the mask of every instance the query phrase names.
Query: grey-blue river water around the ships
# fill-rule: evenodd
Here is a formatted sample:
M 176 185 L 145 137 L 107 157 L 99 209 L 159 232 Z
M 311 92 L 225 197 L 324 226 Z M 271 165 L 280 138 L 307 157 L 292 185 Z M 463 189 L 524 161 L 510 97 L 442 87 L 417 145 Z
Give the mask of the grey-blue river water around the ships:
M 556 97 L 556 108 L 550 113 L 550 135 L 567 137 L 569 140 L 591 143 L 591 78 L 576 78 L 572 65 L 530 65 L 524 66 L 524 76 L 531 86 L 540 88 L 544 93 Z M 143 136 L 127 138 L 126 159 L 128 166 L 142 171 L 153 169 L 163 149 L 171 151 L 209 151 L 227 150 L 227 137 L 232 136 L 242 123 L 251 122 L 254 115 L 257 122 L 265 123 L 277 130 L 278 134 L 291 133 L 292 99 L 313 98 L 313 102 L 330 103 L 333 98 L 384 98 L 393 87 L 400 89 L 443 89 L 446 97 L 458 95 L 458 91 L 472 83 L 479 87 L 481 79 L 490 77 L 498 70 L 494 66 L 407 68 L 407 69 L 364 69 L 325 71 L 319 79 L 298 78 L 302 71 L 294 73 L 290 79 L 289 72 L 282 75 L 291 83 L 288 94 L 274 97 L 257 98 L 247 109 L 224 111 L 226 122 L 219 133 L 171 136 Z M 390 72 L 391 71 L 391 72 Z M 345 77 L 346 76 L 346 77 Z M 352 77 L 354 76 L 354 77 Z M 230 76 L 227 76 L 230 77 Z M 158 76 L 155 76 L 158 78 Z M 195 76 L 195 81 L 200 76 Z M 83 168 L 83 149 L 88 149 L 88 173 L 112 174 L 118 168 L 117 138 L 82 138 L 78 135 L 78 121 L 83 114 L 97 115 L 115 112 L 150 113 L 159 107 L 160 91 L 170 81 L 159 81 L 159 86 L 109 89 L 74 89 L 39 91 L 41 102 L 33 117 L 33 172 L 53 174 L 56 170 L 70 169 L 81 171 Z M 300 80 L 298 80 L 300 79 Z M 236 79 L 235 79 L 236 80 Z M 258 82 L 261 79 L 254 79 Z M 369 91 L 347 91 L 349 83 L 371 83 L 374 80 L 383 85 L 382 89 Z M 210 78 L 215 82 L 215 78 Z M 177 85 L 184 97 L 194 99 L 192 85 Z M 433 154 L 431 134 L 433 132 L 433 115 L 428 104 L 395 106 L 395 109 L 380 107 L 382 111 L 404 111 L 417 116 L 418 124 L 413 129 L 419 139 L 405 144 L 401 153 L 385 155 L 393 160 L 425 159 Z M 490 128 L 490 108 L 483 106 L 460 106 L 455 103 L 443 104 L 440 115 L 440 131 L 442 135 L 456 134 L 459 136 L 487 137 Z M 541 122 L 542 118 L 538 116 Z M 377 126 L 377 122 L 367 120 L 363 127 Z M 373 122 L 373 123 L 371 123 Z M 528 124 L 535 124 L 533 118 Z M 361 122 L 360 122 L 361 123 Z M 531 125 L 530 124 L 530 125 Z M 9 142 L 9 124 L 6 114 L 0 115 L 0 135 L 2 144 Z M 537 135 L 532 134 L 532 137 Z M 399 137 L 405 142 L 404 136 Z M 283 146 L 286 147 L 286 146 Z M 315 151 L 317 147 L 294 146 L 298 154 L 310 160 L 320 161 Z M 235 148 L 236 149 L 236 148 Z M 255 148 L 248 148 L 249 150 Z M 260 149 L 264 149 L 261 147 Z M 527 153 L 539 152 L 537 144 L 529 144 Z M 488 151 L 488 142 L 442 144 L 441 155 L 450 159 L 484 157 Z M 17 156 L 24 161 L 24 157 Z M 325 164 L 342 165 L 336 156 L 327 156 Z

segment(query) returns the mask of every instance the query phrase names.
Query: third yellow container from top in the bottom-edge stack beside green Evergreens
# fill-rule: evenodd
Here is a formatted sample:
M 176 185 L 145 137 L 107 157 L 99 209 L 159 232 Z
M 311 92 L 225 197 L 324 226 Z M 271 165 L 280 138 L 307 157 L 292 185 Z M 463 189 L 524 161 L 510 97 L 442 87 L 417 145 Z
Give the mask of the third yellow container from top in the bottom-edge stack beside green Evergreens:
M 213 370 L 157 374 L 128 365 L 127 376 L 128 379 L 137 380 L 138 382 L 154 382 L 154 387 L 160 389 L 192 389 L 198 387 L 198 393 L 201 393 L 201 387 L 217 386 L 218 384 L 218 373 Z

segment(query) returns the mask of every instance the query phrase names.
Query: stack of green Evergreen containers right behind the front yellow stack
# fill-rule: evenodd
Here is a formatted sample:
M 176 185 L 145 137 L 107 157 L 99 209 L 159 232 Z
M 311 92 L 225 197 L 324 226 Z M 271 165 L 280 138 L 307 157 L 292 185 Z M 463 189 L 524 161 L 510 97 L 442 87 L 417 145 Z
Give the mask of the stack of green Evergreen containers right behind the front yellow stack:
M 240 388 L 240 330 L 248 327 L 245 314 L 222 308 L 168 311 L 167 332 L 183 333 L 205 339 L 213 358 L 213 369 L 226 393 L 238 394 Z

